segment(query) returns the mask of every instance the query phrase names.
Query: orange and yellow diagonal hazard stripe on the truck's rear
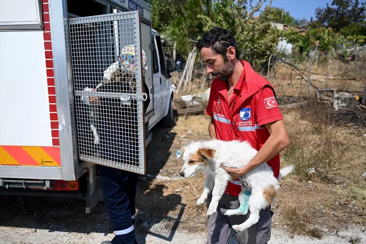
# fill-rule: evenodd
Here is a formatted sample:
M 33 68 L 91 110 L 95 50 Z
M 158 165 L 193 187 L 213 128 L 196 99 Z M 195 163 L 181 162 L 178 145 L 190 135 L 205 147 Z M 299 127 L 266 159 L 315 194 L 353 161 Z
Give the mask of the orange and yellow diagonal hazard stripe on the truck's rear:
M 0 165 L 59 167 L 60 147 L 0 146 Z

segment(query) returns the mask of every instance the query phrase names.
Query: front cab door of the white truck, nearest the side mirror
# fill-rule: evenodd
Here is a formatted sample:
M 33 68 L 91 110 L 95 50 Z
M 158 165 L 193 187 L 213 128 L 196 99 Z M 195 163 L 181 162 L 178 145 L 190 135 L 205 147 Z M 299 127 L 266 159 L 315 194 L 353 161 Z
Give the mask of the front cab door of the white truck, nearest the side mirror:
M 161 84 L 161 115 L 160 119 L 163 118 L 168 110 L 169 105 L 169 95 L 170 95 L 170 80 L 167 73 L 167 63 L 165 60 L 165 55 L 163 51 L 163 45 L 161 44 L 160 35 L 155 34 L 156 38 L 156 47 L 159 55 L 159 64 L 160 64 L 160 84 Z

